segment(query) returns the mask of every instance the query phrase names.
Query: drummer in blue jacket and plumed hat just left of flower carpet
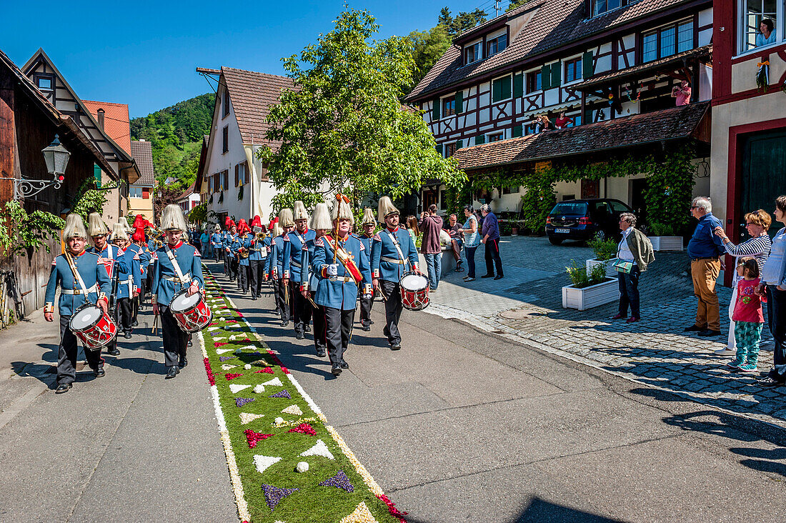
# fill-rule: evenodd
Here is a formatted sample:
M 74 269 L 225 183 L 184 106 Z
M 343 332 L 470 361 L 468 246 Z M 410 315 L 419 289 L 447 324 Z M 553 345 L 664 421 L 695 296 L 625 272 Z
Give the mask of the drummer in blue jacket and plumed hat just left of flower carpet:
M 161 315 L 163 356 L 167 366 L 167 379 L 174 378 L 180 368 L 188 365 L 185 358 L 189 336 L 178 326 L 169 304 L 176 293 L 188 285 L 188 295 L 204 289 L 201 256 L 196 247 L 183 243 L 182 236 L 188 228 L 182 209 L 176 204 L 167 205 L 161 215 L 161 228 L 167 231 L 167 243 L 156 251 L 152 276 L 152 312 Z

